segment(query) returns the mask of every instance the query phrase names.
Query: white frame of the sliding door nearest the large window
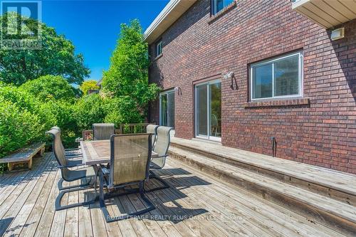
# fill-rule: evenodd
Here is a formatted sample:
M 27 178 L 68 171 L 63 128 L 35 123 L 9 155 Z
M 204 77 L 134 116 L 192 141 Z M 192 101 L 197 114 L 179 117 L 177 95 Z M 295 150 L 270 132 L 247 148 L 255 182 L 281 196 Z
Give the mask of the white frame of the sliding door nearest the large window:
M 211 84 L 215 84 L 215 83 L 221 83 L 221 80 L 220 79 L 216 79 L 216 80 L 209 80 L 209 81 L 206 81 L 204 83 L 198 83 L 196 85 L 194 85 L 194 134 L 195 134 L 195 137 L 197 138 L 200 138 L 200 139 L 209 139 L 211 141 L 215 141 L 215 142 L 221 142 L 221 137 L 214 137 L 214 136 L 210 136 L 209 133 L 210 133 L 210 120 L 211 120 L 211 113 L 209 113 L 209 116 L 207 117 L 207 130 L 208 130 L 208 135 L 199 135 L 199 131 L 198 131 L 198 116 L 197 116 L 197 112 L 198 112 L 198 97 L 197 97 L 197 86 L 199 85 L 208 85 L 208 89 L 207 89 L 207 92 L 206 92 L 206 99 L 208 100 L 206 102 L 206 106 L 207 106 L 207 111 L 210 112 L 210 101 L 209 101 L 209 98 L 210 98 L 210 92 L 209 92 L 209 85 Z M 221 90 L 221 93 L 222 93 L 222 90 Z M 221 101 L 222 103 L 222 101 Z

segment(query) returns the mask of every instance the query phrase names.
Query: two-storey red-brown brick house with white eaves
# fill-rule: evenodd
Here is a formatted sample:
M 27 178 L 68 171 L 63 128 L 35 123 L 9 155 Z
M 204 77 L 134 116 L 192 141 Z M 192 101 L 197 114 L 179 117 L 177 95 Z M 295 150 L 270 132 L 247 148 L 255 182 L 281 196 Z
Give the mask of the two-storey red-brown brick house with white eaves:
M 355 19 L 347 0 L 170 1 L 145 31 L 150 122 L 356 174 Z

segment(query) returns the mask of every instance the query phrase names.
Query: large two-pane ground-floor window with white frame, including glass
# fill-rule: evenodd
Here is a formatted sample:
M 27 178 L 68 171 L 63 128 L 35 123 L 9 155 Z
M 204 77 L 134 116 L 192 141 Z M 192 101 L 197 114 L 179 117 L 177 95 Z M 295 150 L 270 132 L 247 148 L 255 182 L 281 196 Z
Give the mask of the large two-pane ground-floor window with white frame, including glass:
M 251 65 L 251 100 L 302 96 L 301 52 Z

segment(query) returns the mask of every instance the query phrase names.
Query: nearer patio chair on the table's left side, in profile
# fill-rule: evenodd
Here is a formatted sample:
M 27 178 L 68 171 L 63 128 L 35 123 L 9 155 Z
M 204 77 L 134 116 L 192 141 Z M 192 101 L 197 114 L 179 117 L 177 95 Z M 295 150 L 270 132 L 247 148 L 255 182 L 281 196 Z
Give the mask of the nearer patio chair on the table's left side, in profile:
M 82 206 L 82 205 L 87 205 L 87 204 L 92 204 L 94 200 L 92 201 L 84 201 L 78 204 L 70 204 L 67 206 L 61 206 L 61 199 L 63 198 L 64 194 L 71 192 L 71 191 L 79 191 L 83 189 L 90 189 L 92 187 L 96 187 L 96 175 L 97 172 L 95 172 L 95 169 L 93 167 L 83 167 L 80 169 L 75 169 L 71 170 L 68 169 L 70 167 L 79 167 L 82 166 L 83 164 L 73 164 L 73 162 L 68 161 L 66 159 L 63 149 L 61 149 L 61 139 L 60 135 L 61 133 L 56 130 L 52 129 L 46 134 L 51 135 L 53 138 L 53 154 L 56 157 L 56 160 L 59 164 L 58 168 L 61 169 L 61 179 L 58 181 L 58 189 L 61 191 L 56 199 L 56 210 L 62 210 L 62 209 L 68 209 L 72 208 L 75 206 Z M 66 186 L 63 187 L 63 181 L 77 181 L 85 179 L 86 182 L 84 184 L 78 184 L 78 185 L 73 185 L 73 186 Z M 89 179 L 89 180 L 88 180 Z

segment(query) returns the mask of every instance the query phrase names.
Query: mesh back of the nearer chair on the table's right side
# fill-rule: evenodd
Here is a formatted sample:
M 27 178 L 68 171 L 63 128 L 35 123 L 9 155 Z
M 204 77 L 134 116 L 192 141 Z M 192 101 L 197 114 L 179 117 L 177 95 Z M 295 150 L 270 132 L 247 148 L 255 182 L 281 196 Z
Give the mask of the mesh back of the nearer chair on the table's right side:
M 160 168 L 163 168 L 166 163 L 167 152 L 171 142 L 169 132 L 171 132 L 172 129 L 172 127 L 157 127 L 157 139 L 153 151 L 158 154 L 158 158 L 152 159 L 151 162 Z

